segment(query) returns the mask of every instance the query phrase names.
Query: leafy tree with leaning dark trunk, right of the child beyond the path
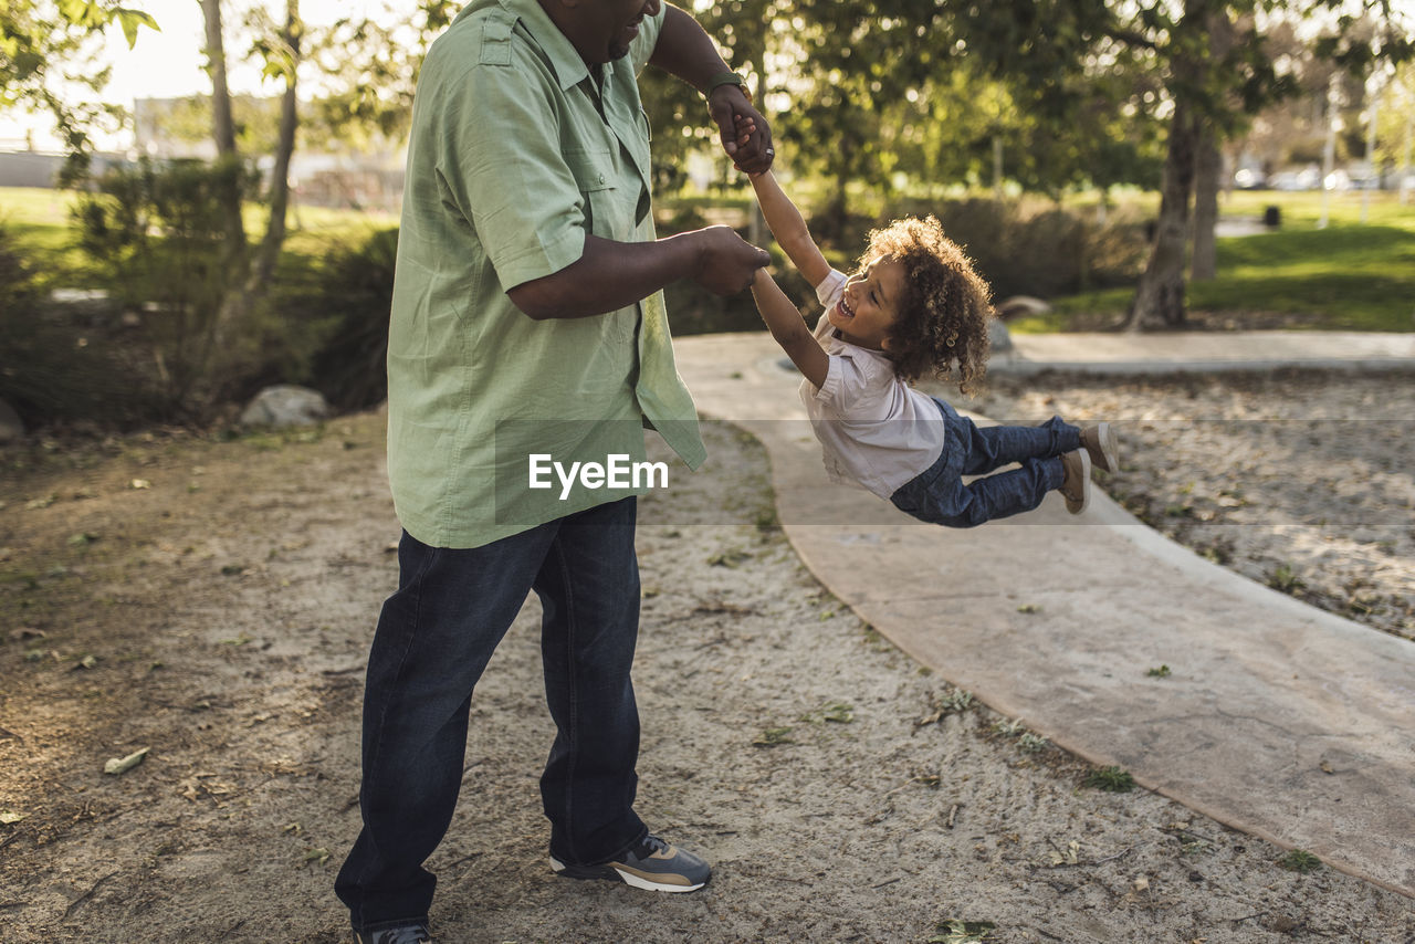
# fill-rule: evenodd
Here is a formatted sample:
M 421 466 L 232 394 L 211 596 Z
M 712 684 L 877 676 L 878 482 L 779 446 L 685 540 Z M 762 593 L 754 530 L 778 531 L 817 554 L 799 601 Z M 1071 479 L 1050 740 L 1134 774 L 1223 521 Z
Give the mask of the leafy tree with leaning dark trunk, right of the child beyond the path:
M 1343 0 L 941 3 L 966 45 L 999 76 L 1026 76 L 1040 89 L 1065 88 L 1067 75 L 1082 72 L 1101 51 L 1114 48 L 1148 57 L 1163 76 L 1165 95 L 1153 103 L 1169 120 L 1160 214 L 1126 317 L 1131 328 L 1184 323 L 1190 201 L 1199 156 L 1211 153 L 1207 142 L 1221 144 L 1245 116 L 1296 88 L 1293 76 L 1269 55 L 1265 27 L 1282 18 L 1332 16 L 1350 6 Z M 1411 40 L 1391 4 L 1363 0 L 1361 6 L 1381 13 L 1377 37 L 1363 40 L 1353 31 L 1358 17 L 1340 16 L 1320 51 L 1347 68 L 1375 58 L 1409 58 Z

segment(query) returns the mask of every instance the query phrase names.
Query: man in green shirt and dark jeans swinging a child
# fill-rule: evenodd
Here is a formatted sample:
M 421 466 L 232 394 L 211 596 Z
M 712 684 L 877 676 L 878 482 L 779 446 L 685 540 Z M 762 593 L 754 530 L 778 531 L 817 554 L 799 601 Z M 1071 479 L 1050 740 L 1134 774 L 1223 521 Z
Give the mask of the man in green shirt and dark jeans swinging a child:
M 552 868 L 678 892 L 710 875 L 633 810 L 647 485 L 533 474 L 642 459 L 645 426 L 696 467 L 661 289 L 736 293 L 768 260 L 723 226 L 655 239 L 645 64 L 706 95 L 740 168 L 770 167 L 740 79 L 659 0 L 474 0 L 419 76 L 388 355 L 399 587 L 369 654 L 364 829 L 335 886 L 358 941 L 430 940 L 423 862 L 456 807 L 471 692 L 531 590 L 558 726 L 541 778 Z M 734 116 L 761 130 L 739 144 Z

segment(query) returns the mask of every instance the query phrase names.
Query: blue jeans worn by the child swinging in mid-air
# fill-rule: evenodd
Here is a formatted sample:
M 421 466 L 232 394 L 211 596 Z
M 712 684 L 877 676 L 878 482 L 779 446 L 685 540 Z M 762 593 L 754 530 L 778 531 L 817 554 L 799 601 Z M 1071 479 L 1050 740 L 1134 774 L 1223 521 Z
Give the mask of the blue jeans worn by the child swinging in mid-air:
M 1053 416 L 1040 426 L 978 427 L 934 398 L 944 415 L 944 450 L 927 470 L 890 495 L 896 508 L 920 521 L 975 528 L 993 518 L 1032 511 L 1061 485 L 1061 453 L 1081 446 L 1081 430 Z M 995 468 L 1022 463 L 996 476 Z M 985 476 L 964 483 L 964 476 Z

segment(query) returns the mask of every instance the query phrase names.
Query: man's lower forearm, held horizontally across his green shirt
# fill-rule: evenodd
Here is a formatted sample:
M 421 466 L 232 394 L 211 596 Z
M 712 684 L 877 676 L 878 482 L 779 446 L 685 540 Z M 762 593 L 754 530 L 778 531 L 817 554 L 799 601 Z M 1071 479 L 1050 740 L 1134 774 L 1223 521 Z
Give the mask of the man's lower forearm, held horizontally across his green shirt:
M 672 282 L 692 277 L 700 265 L 695 235 L 686 232 L 654 242 L 613 242 L 587 235 L 579 262 L 507 294 L 538 321 L 618 311 Z

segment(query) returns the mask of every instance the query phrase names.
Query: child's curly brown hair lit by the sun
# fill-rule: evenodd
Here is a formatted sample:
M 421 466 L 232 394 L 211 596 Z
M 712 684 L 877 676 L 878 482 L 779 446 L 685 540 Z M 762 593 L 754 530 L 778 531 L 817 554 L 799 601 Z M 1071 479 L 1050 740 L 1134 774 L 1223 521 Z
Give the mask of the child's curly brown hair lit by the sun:
M 992 290 L 935 217 L 907 217 L 870 231 L 862 267 L 882 256 L 904 265 L 904 297 L 886 335 L 894 374 L 914 382 L 925 372 L 974 393 L 988 369 Z

